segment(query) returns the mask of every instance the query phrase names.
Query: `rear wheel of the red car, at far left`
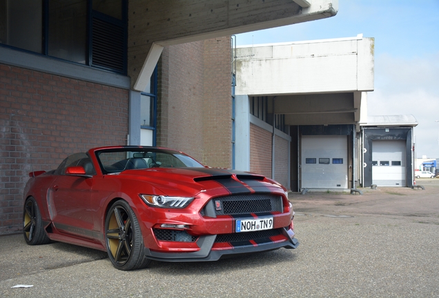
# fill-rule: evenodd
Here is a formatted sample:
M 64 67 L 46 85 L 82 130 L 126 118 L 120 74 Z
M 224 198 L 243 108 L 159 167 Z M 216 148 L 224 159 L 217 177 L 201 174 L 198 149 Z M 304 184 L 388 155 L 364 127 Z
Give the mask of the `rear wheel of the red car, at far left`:
M 48 244 L 50 242 L 43 227 L 37 201 L 33 197 L 29 197 L 24 203 L 23 236 L 29 245 Z

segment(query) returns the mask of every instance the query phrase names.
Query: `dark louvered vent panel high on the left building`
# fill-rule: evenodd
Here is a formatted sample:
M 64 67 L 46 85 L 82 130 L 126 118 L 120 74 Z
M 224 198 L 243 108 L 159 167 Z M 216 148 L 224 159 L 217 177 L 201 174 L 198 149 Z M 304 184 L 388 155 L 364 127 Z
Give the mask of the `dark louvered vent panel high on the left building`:
M 95 17 L 92 22 L 91 65 L 125 72 L 124 28 Z

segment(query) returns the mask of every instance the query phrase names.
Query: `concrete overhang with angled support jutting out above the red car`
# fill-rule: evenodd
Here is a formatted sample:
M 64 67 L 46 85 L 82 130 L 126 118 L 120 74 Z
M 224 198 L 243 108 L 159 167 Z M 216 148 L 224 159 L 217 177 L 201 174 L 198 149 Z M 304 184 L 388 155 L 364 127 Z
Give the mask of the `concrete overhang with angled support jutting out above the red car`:
M 130 0 L 128 76 L 143 91 L 164 46 L 333 17 L 338 0 Z

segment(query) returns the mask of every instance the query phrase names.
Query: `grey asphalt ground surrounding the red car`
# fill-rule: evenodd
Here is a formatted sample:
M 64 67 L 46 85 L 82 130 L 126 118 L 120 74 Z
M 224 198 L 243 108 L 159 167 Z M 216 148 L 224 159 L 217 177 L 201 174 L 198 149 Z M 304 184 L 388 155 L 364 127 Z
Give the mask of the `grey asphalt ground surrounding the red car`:
M 122 272 L 106 252 L 3 236 L 0 297 L 438 297 L 439 179 L 417 183 L 291 193 L 299 248 L 215 262 Z

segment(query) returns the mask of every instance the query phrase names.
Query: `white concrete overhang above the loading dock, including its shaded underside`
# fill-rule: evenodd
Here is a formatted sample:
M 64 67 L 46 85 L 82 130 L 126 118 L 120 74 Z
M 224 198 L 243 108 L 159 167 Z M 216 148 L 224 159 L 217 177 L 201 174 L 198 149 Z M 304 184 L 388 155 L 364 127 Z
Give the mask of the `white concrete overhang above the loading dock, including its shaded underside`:
M 374 39 L 362 34 L 239 47 L 235 92 L 275 98 L 274 113 L 286 125 L 367 123 L 373 56 Z

